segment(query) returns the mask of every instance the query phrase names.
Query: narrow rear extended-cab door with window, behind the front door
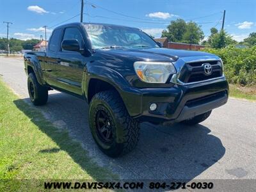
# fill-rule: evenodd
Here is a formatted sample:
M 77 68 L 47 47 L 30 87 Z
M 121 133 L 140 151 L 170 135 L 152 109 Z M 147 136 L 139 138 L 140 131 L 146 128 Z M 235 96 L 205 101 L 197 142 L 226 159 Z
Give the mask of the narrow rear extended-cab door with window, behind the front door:
M 57 28 L 52 32 L 46 56 L 44 58 L 44 65 L 42 65 L 44 80 L 51 86 L 56 86 L 58 84 L 56 80 L 56 65 L 58 64 L 56 53 L 60 47 L 61 30 L 61 28 Z

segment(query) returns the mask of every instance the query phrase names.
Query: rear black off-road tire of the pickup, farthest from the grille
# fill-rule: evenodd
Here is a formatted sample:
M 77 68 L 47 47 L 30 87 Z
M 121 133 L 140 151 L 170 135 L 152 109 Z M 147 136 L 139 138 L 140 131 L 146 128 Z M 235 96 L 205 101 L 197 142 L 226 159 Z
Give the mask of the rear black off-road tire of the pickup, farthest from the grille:
M 48 89 L 38 83 L 34 73 L 28 75 L 28 93 L 35 106 L 42 106 L 47 103 Z

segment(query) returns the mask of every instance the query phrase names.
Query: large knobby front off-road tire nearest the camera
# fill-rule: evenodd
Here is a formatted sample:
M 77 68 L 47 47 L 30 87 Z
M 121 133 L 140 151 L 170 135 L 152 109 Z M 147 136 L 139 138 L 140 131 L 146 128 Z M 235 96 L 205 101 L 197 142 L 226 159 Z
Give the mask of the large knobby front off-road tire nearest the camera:
M 103 112 L 102 112 L 103 111 Z M 106 142 L 100 136 L 97 114 L 108 116 L 107 127 L 111 130 L 112 140 Z M 98 124 L 97 124 L 98 122 Z M 96 93 L 89 105 L 89 125 L 92 136 L 104 154 L 118 157 L 127 154 L 138 143 L 140 124 L 129 116 L 120 95 L 115 90 Z M 101 130 L 101 129 L 100 129 Z

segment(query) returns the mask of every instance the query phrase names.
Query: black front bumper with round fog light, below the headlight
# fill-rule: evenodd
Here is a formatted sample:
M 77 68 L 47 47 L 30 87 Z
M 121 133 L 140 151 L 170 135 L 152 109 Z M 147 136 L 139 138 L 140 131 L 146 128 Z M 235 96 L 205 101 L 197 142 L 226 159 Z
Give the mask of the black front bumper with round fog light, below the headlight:
M 173 84 L 171 88 L 126 88 L 120 95 L 134 118 L 154 124 L 180 122 L 225 104 L 228 83 L 223 77 L 189 85 Z M 157 104 L 155 111 L 149 109 L 152 103 Z

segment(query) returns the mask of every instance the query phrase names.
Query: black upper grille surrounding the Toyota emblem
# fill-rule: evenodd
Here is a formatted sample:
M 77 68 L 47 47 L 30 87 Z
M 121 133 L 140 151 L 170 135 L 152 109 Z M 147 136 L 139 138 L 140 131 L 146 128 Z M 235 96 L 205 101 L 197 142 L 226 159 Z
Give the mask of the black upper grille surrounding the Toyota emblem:
M 204 63 L 211 64 L 211 74 L 205 74 Z M 186 63 L 180 72 L 179 80 L 183 83 L 194 83 L 208 79 L 221 77 L 223 74 L 220 61 L 198 61 Z

